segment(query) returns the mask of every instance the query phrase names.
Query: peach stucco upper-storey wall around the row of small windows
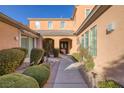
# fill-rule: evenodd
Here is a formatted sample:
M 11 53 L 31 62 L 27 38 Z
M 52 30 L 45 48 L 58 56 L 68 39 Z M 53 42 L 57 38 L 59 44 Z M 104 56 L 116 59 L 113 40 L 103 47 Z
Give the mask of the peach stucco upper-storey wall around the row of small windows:
M 94 5 L 78 5 L 75 6 L 76 7 L 76 11 L 74 12 L 74 18 L 73 19 L 52 19 L 49 20 L 48 19 L 34 19 L 34 20 L 29 20 L 29 27 L 33 30 L 72 30 L 72 31 L 77 31 L 77 29 L 79 28 L 79 26 L 81 25 L 81 23 L 84 21 L 84 19 L 86 18 L 86 9 L 92 9 L 94 7 Z M 73 16 L 73 14 L 72 14 Z M 35 21 L 40 21 L 40 25 L 41 28 L 40 29 L 36 29 L 35 27 Z M 48 29 L 48 21 L 51 21 L 53 23 L 53 28 L 52 29 Z M 66 23 L 65 28 L 61 29 L 60 28 L 60 23 L 61 21 L 64 21 Z

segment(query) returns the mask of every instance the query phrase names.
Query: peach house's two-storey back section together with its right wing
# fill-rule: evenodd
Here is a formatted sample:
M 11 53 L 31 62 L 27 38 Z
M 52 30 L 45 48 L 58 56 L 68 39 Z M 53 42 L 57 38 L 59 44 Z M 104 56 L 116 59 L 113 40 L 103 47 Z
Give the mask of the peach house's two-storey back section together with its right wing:
M 89 12 L 91 11 L 91 12 Z M 89 12 L 89 13 L 87 13 Z M 29 27 L 52 40 L 66 54 L 87 48 L 95 62 L 94 72 L 124 85 L 124 6 L 75 6 L 73 16 L 65 18 L 28 18 Z

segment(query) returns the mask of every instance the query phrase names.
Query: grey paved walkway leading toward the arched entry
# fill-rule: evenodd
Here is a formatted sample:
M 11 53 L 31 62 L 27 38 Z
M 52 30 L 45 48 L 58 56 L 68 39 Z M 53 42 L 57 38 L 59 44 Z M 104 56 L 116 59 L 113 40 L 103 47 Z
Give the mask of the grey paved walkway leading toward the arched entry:
M 69 57 L 63 56 L 57 64 L 53 65 L 51 78 L 45 87 L 86 88 L 87 85 L 78 69 L 66 69 L 69 65 L 73 63 L 74 62 Z

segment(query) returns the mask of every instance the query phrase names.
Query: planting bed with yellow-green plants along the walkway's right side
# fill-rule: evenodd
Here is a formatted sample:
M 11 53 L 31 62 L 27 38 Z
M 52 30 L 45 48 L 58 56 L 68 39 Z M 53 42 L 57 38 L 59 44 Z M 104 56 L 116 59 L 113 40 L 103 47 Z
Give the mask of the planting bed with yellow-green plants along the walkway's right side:
M 81 58 L 82 57 L 82 58 Z M 94 60 L 87 49 L 81 48 L 80 53 L 73 53 L 70 58 L 75 62 L 83 62 L 83 66 L 79 68 L 79 72 L 84 78 L 88 87 L 92 88 L 122 88 L 123 86 L 114 80 L 107 78 L 99 78 L 99 74 L 94 72 Z

